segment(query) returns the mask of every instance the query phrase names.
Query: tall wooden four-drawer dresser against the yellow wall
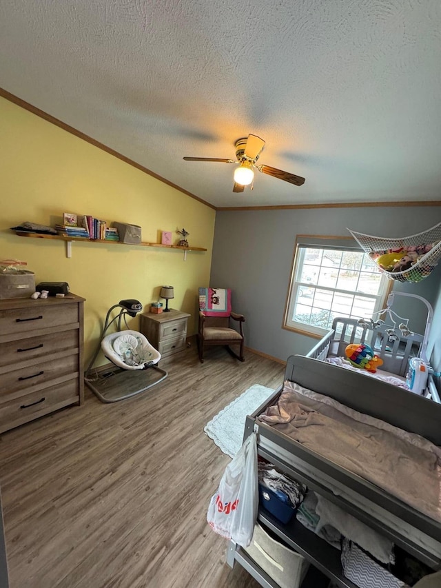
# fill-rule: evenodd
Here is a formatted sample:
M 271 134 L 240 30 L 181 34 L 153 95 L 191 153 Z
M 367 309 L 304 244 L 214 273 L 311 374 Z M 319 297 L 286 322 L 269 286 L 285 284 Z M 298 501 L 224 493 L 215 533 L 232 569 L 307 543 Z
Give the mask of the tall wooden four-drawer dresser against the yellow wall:
M 0 432 L 83 402 L 84 298 L 70 296 L 0 300 Z

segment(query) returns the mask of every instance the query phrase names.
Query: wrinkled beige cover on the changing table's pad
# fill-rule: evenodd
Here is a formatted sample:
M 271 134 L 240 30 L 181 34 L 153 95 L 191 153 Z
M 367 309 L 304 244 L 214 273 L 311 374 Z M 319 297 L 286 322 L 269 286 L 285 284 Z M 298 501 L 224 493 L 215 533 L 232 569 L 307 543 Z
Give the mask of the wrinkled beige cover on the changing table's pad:
M 441 522 L 441 449 L 427 439 L 291 382 L 259 418 Z

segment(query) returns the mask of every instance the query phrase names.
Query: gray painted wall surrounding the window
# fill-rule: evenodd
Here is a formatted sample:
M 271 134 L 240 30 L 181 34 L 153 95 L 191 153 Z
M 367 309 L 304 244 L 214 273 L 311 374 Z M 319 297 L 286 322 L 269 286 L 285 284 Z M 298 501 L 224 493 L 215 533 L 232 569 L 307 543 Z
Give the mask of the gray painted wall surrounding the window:
M 317 341 L 282 328 L 297 234 L 349 235 L 349 227 L 366 234 L 400 237 L 440 221 L 438 206 L 218 211 L 209 285 L 232 288 L 233 310 L 245 314 L 247 347 L 285 360 L 291 354 L 305 354 Z M 441 263 L 418 284 L 394 283 L 394 289 L 423 296 L 432 305 L 438 300 L 438 330 L 440 277 Z M 396 296 L 395 308 L 401 316 L 411 318 L 412 330 L 424 332 L 422 303 Z

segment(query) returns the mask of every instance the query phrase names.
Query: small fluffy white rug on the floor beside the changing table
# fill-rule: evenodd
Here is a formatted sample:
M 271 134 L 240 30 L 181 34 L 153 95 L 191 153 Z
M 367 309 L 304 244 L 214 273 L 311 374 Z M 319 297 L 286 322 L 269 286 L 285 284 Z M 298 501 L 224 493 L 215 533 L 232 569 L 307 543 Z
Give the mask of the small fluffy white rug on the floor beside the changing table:
M 205 425 L 204 432 L 214 440 L 220 450 L 234 457 L 242 446 L 245 418 L 252 414 L 274 392 L 255 384 L 229 403 Z

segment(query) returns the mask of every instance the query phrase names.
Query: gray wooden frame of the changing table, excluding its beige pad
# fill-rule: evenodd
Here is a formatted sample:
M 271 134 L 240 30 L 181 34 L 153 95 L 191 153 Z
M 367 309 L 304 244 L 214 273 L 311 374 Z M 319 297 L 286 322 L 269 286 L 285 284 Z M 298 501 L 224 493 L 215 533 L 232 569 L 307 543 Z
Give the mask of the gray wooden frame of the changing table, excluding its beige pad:
M 435 445 L 441 445 L 441 405 L 427 398 L 304 356 L 288 358 L 285 380 L 294 381 L 360 412 L 422 435 Z M 247 416 L 244 439 L 256 430 L 260 456 L 389 537 L 393 543 L 433 570 L 441 569 L 441 523 L 258 420 L 257 416 L 276 402 L 282 388 L 280 386 L 252 416 Z M 258 520 L 337 586 L 356 587 L 342 575 L 340 551 L 303 527 L 296 518 L 283 525 L 267 511 L 260 509 Z M 277 587 L 274 580 L 243 549 L 230 542 L 227 563 L 232 567 L 234 562 L 243 565 L 260 585 Z M 307 586 L 305 582 L 303 585 Z

